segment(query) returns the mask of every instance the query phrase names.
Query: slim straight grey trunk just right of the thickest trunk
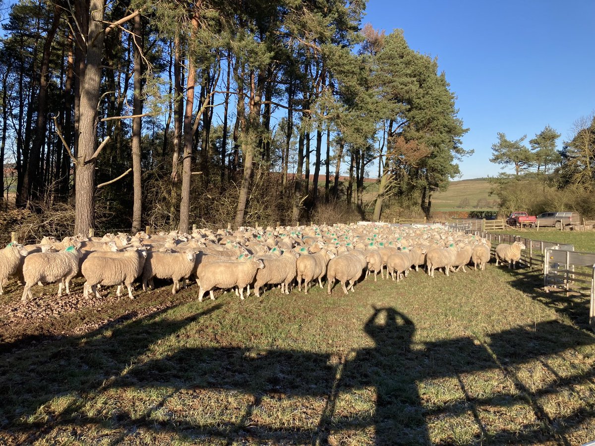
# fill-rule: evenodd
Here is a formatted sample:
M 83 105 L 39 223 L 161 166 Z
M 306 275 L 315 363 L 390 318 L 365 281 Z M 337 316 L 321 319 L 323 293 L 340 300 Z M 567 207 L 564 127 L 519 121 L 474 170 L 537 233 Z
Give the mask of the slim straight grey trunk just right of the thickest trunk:
M 143 48 L 143 30 L 140 23 L 140 14 L 134 17 L 134 97 L 133 97 L 133 115 L 142 115 L 143 100 L 142 93 L 142 48 Z M 132 206 L 132 233 L 140 231 L 142 224 L 142 181 L 140 171 L 140 138 L 142 130 L 142 117 L 138 116 L 132 120 L 132 174 L 133 174 L 133 206 Z

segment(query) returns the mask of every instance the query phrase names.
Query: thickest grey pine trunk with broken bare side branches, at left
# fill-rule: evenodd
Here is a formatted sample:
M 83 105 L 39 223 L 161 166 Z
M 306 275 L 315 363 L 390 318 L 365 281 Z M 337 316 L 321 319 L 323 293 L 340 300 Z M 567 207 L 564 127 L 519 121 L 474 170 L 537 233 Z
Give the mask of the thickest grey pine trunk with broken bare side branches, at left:
M 76 165 L 74 233 L 87 234 L 95 227 L 95 153 L 97 104 L 101 85 L 101 56 L 104 47 L 104 0 L 90 0 L 86 68 L 80 86 L 79 153 Z

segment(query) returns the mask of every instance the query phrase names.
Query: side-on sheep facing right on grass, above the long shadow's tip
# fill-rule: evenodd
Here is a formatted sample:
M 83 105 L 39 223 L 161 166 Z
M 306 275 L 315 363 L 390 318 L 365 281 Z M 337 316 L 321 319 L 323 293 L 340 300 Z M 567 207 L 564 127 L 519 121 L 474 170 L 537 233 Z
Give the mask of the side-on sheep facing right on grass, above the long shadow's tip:
M 255 257 L 249 257 L 247 260 L 237 262 L 233 260 L 218 260 L 205 263 L 200 270 L 200 289 L 198 291 L 198 301 L 202 302 L 202 297 L 209 291 L 212 300 L 215 300 L 213 288 L 233 288 L 237 287 L 240 291 L 240 299 L 244 300 L 244 288 L 251 284 L 256 277 L 256 271 L 264 268 L 264 262 Z

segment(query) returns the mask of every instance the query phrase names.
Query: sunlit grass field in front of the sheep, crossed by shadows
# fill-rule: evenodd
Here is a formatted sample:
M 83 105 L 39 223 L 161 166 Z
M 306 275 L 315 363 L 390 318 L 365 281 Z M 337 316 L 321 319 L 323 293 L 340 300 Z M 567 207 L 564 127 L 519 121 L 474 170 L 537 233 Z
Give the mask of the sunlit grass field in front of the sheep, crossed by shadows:
M 11 282 L 0 444 L 583 444 L 595 438 L 588 299 L 540 285 L 490 263 L 349 296 L 75 294 L 57 313 L 44 307 L 56 287 L 36 287 L 46 296 L 23 320 Z

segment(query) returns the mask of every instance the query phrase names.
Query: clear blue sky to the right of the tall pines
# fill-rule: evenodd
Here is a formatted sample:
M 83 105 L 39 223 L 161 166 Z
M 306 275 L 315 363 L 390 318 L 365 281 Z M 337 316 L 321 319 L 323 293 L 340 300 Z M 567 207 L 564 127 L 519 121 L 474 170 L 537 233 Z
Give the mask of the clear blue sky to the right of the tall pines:
M 549 124 L 569 139 L 595 110 L 595 1 L 369 0 L 364 23 L 403 29 L 412 49 L 437 56 L 469 132 L 462 178 L 496 175 L 497 132 L 528 140 Z

